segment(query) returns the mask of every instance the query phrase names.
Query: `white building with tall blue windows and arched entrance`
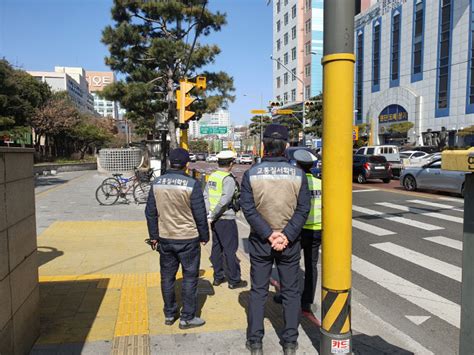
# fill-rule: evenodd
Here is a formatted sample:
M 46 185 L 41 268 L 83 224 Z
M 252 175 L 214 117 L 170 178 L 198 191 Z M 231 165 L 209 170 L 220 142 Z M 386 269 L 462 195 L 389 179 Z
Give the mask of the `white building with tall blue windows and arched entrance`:
M 374 143 L 454 146 L 474 125 L 473 10 L 473 0 L 383 0 L 356 16 L 354 116 Z M 406 135 L 393 133 L 405 122 Z

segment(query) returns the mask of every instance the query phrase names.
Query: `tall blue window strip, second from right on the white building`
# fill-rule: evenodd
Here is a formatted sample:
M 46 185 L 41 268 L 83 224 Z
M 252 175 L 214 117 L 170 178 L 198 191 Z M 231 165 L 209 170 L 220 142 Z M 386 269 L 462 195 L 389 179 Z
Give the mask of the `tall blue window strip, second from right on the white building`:
M 448 114 L 449 65 L 451 62 L 451 0 L 441 0 L 441 22 L 438 39 L 438 92 L 436 108 L 439 115 Z M 437 114 L 438 115 L 438 114 Z

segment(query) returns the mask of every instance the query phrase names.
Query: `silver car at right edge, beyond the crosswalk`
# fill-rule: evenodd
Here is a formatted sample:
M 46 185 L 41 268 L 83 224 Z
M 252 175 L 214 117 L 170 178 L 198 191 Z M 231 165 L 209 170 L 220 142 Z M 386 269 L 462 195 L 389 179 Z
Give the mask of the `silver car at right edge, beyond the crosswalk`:
M 464 195 L 466 172 L 441 169 L 441 160 L 402 170 L 400 185 L 408 191 L 427 189 Z

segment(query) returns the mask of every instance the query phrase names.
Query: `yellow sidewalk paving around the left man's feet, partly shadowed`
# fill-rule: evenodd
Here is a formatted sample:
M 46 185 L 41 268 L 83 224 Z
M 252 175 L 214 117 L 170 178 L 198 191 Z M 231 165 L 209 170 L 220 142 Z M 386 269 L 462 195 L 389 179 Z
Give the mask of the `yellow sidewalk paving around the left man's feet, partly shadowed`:
M 145 222 L 55 222 L 38 238 L 39 246 L 56 250 L 40 258 L 39 343 L 246 328 L 248 290 L 212 286 L 211 243 L 202 248 L 198 286 L 206 325 L 185 332 L 178 322 L 165 326 L 159 256 L 143 242 L 146 234 Z M 248 260 L 238 256 L 248 280 Z M 176 278 L 179 304 L 182 273 Z

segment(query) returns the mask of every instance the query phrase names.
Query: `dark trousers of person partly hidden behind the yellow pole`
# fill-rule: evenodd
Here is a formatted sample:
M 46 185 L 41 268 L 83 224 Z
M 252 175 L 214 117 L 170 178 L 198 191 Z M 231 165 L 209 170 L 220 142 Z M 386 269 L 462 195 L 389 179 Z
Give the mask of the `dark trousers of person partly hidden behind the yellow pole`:
M 321 231 L 302 230 L 301 249 L 303 249 L 304 255 L 304 290 L 301 295 L 301 307 L 305 310 L 310 309 L 316 293 L 320 246 Z

